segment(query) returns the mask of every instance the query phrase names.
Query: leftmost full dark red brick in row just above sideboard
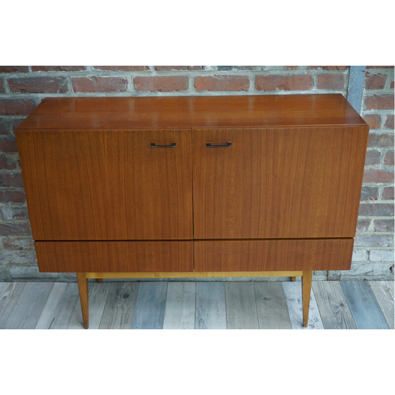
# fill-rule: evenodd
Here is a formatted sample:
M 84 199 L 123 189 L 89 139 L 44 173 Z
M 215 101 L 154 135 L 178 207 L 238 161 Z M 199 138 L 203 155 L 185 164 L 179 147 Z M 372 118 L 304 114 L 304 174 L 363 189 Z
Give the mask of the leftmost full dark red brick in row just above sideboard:
M 9 90 L 15 93 L 67 93 L 65 77 L 34 77 L 9 79 Z

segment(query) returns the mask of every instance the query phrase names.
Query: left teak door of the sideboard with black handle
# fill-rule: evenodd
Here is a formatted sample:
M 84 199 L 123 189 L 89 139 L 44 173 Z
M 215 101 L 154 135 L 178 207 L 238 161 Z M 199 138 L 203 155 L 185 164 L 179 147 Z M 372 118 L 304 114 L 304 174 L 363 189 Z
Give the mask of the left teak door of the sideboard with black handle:
M 193 238 L 191 130 L 16 135 L 36 240 Z

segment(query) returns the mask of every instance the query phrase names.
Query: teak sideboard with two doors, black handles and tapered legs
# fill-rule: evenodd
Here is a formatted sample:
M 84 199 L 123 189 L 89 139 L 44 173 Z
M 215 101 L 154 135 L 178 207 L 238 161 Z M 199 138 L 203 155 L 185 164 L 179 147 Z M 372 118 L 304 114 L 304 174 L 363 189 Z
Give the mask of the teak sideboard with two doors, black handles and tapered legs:
M 40 272 L 349 270 L 369 127 L 340 94 L 46 98 L 16 131 Z

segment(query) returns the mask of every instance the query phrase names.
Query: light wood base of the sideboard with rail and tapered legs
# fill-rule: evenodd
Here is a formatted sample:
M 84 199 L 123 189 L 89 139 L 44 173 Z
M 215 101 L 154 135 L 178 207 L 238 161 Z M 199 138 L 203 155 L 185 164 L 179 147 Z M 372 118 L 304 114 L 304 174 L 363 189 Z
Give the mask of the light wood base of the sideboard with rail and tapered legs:
M 204 278 L 204 277 L 302 277 L 303 326 L 307 327 L 309 319 L 312 270 L 293 272 L 147 272 L 147 273 L 77 273 L 79 300 L 81 302 L 83 327 L 89 327 L 89 288 L 88 279 L 97 278 Z

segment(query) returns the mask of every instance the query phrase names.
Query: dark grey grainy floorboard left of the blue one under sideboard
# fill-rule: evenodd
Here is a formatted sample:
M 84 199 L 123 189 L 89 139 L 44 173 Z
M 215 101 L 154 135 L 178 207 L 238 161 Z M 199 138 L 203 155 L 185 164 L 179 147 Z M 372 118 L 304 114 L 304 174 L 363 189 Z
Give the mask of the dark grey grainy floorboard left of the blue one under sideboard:
M 138 282 L 112 282 L 99 329 L 130 329 Z

